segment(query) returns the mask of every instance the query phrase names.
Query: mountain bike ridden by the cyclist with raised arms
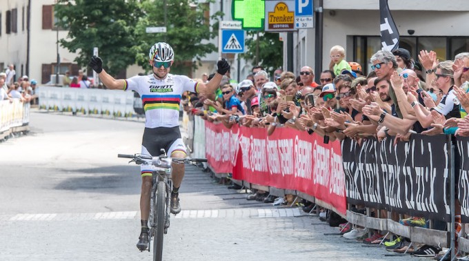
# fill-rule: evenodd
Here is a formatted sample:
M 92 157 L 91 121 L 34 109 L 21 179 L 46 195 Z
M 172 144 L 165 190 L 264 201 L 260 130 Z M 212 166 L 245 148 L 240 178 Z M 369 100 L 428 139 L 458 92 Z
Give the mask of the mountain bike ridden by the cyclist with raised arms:
M 117 157 L 132 159 L 135 164 L 146 164 L 152 167 L 152 190 L 150 194 L 150 216 L 148 217 L 150 233 L 148 233 L 148 251 L 153 241 L 153 260 L 161 261 L 163 257 L 163 235 L 170 227 L 170 195 L 172 191 L 171 164 L 207 162 L 207 159 L 179 159 L 168 157 L 164 150 L 161 155 L 152 157 L 144 154 L 119 154 Z M 129 162 L 129 163 L 130 163 Z

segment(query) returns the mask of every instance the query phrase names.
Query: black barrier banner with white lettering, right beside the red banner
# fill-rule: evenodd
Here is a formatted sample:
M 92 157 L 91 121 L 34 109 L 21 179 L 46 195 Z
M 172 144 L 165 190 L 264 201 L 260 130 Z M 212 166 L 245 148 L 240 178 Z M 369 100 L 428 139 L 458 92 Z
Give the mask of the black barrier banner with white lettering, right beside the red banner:
M 412 135 L 397 145 L 391 138 L 344 140 L 348 203 L 448 222 L 451 143 L 437 137 Z

